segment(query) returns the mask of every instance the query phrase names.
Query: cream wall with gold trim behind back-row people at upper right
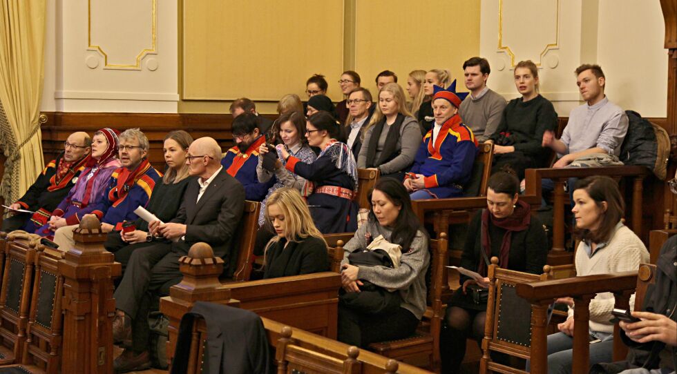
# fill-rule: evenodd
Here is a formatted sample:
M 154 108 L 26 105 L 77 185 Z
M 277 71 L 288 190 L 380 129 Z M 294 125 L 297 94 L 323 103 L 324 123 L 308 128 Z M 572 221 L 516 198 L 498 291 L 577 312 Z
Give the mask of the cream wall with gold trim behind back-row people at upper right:
M 541 94 L 562 117 L 582 104 L 573 74 L 582 63 L 602 66 L 612 101 L 645 117 L 665 117 L 664 32 L 658 1 L 481 1 L 480 53 L 492 68 L 488 86 L 506 99 L 518 97 L 513 66 L 531 59 L 539 65 Z

